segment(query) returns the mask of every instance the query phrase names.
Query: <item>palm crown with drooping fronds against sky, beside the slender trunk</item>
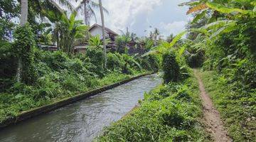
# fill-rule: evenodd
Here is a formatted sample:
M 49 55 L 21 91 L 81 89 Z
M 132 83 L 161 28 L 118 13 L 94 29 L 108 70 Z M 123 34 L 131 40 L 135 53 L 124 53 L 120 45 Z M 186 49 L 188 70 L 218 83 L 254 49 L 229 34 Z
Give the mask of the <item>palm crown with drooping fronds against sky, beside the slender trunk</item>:
M 78 0 L 75 0 L 75 1 L 78 1 Z M 97 4 L 95 1 L 82 0 L 78 5 L 78 7 L 75 9 L 75 11 L 79 11 L 80 9 L 83 10 L 85 25 L 89 26 L 91 16 L 94 16 L 95 21 L 97 21 L 96 14 L 93 9 L 99 9 L 99 8 L 100 8 L 100 4 Z M 103 7 L 103 11 L 108 13 L 107 9 L 105 9 L 104 7 Z

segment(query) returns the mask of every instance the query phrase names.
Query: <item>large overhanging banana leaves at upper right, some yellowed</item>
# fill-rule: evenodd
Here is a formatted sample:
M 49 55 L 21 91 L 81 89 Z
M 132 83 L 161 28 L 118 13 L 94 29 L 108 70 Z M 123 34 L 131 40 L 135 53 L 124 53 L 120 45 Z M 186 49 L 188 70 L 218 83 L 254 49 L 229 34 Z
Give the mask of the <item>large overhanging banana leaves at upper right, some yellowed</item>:
M 193 19 L 193 23 L 200 20 L 203 16 L 209 17 L 209 19 L 215 18 L 215 20 L 209 20 L 209 23 L 206 26 L 201 28 L 189 29 L 187 31 L 183 31 L 176 35 L 174 40 L 171 43 L 161 43 L 161 45 L 155 47 L 153 50 L 150 50 L 148 53 L 145 53 L 142 56 L 146 56 L 149 54 L 162 54 L 171 48 L 180 40 L 183 35 L 188 32 L 198 32 L 199 34 L 204 35 L 206 40 L 198 41 L 194 43 L 195 47 L 199 47 L 202 45 L 206 45 L 213 38 L 218 37 L 223 33 L 229 33 L 230 31 L 238 28 L 238 21 L 240 17 L 247 16 L 250 18 L 255 18 L 256 13 L 256 2 L 252 1 L 243 1 L 236 0 L 234 1 L 224 1 L 224 0 L 198 0 L 198 1 L 190 1 L 186 3 L 179 4 L 179 6 L 190 6 L 191 8 L 187 11 L 187 14 L 196 13 L 196 17 Z M 208 16 L 209 13 L 212 15 Z M 215 16 L 215 13 L 221 13 L 224 15 L 221 18 Z

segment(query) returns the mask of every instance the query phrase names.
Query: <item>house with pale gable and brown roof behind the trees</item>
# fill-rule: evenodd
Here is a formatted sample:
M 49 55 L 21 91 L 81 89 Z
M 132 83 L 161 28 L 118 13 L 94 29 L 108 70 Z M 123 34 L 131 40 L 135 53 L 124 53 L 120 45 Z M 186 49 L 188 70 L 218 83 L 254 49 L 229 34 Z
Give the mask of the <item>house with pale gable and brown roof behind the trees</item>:
M 102 26 L 100 26 L 99 24 L 95 23 L 93 24 L 90 28 L 89 28 L 89 32 L 92 36 L 100 36 L 100 39 L 103 38 L 103 34 L 102 34 Z M 107 50 L 115 50 L 116 46 L 115 45 L 115 38 L 117 37 L 117 33 L 115 33 L 114 31 L 110 30 L 110 28 L 106 28 L 105 27 L 105 36 L 106 39 L 110 39 L 110 42 L 107 43 Z M 86 49 L 87 45 L 78 45 L 74 47 L 75 53 L 85 53 L 85 49 Z

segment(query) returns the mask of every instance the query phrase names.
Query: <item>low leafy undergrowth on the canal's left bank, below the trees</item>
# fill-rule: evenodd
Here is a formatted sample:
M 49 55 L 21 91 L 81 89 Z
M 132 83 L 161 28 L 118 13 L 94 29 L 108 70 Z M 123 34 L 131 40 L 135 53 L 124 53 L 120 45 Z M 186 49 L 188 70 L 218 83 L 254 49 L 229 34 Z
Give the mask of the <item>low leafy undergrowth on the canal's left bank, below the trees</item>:
M 96 51 L 92 52 L 92 50 Z M 121 66 L 109 66 L 108 70 L 103 70 L 102 56 L 90 58 L 90 53 L 102 55 L 102 50 L 91 49 L 85 55 L 72 56 L 68 56 L 61 51 L 51 53 L 35 50 L 35 60 L 32 64 L 34 77 L 31 78 L 29 84 L 11 80 L 10 76 L 15 74 L 1 78 L 4 83 L 1 84 L 0 93 L 0 121 L 9 116 L 16 116 L 21 111 L 40 107 L 65 97 L 72 97 L 81 92 L 87 92 L 97 87 L 126 80 L 134 75 L 153 71 L 150 67 L 140 68 L 136 60 L 142 59 L 132 58 L 125 54 L 120 55 L 119 53 L 108 53 L 108 57 L 110 55 L 117 55 L 118 58 L 115 60 L 115 63 Z M 96 64 L 95 62 L 98 63 Z M 5 72 L 6 70 L 16 70 L 16 66 L 11 68 L 10 66 L 4 67 L 4 74 L 9 73 Z M 157 68 L 154 68 L 154 70 L 157 70 Z M 15 71 L 11 72 L 15 73 Z

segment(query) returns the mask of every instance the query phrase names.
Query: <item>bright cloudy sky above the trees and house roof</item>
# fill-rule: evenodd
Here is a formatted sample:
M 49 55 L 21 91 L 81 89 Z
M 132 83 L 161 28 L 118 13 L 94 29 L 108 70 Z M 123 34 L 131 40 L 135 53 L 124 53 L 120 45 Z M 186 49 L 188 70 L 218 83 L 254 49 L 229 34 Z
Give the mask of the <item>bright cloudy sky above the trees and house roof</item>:
M 97 2 L 97 0 L 95 0 Z M 102 5 L 109 11 L 105 13 L 105 26 L 120 33 L 120 30 L 148 35 L 149 31 L 159 28 L 165 37 L 180 33 L 185 29 L 190 16 L 186 15 L 188 7 L 178 6 L 188 0 L 102 0 Z M 77 5 L 77 4 L 74 4 Z M 99 9 L 95 9 L 97 23 L 101 25 Z M 82 18 L 82 12 L 78 13 Z M 92 18 L 91 24 L 95 23 Z

